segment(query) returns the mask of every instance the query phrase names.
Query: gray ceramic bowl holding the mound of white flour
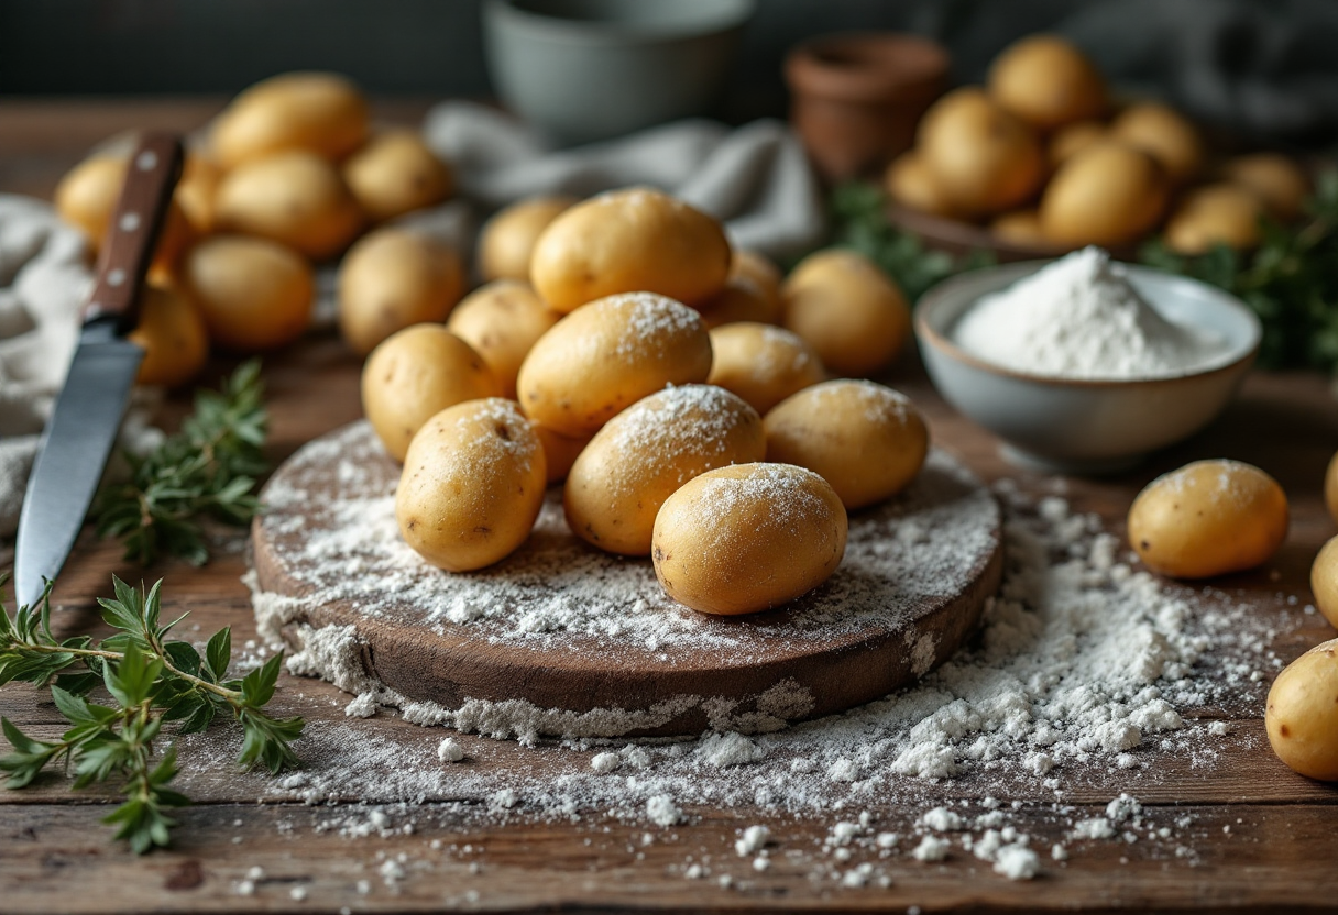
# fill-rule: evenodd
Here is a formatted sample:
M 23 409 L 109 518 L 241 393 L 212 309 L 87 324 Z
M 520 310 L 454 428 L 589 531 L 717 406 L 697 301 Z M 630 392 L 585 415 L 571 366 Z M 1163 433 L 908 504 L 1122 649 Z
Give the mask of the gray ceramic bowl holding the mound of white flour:
M 925 293 L 915 336 L 939 393 L 1005 440 L 1014 463 L 1076 474 L 1115 472 L 1212 421 L 1254 364 L 1259 318 L 1223 290 L 1129 266 L 1133 288 L 1172 321 L 1222 334 L 1227 353 L 1204 371 L 1137 381 L 1070 381 L 999 368 L 951 341 L 981 296 L 1010 286 L 1044 261 L 973 270 Z

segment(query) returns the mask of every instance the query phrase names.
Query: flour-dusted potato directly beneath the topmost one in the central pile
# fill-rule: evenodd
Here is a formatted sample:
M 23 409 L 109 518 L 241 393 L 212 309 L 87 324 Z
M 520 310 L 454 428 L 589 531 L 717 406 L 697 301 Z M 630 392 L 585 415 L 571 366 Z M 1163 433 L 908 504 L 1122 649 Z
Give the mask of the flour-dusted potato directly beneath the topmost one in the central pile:
M 694 310 L 665 296 L 626 293 L 567 314 L 539 337 L 516 393 L 526 416 L 579 437 L 666 384 L 709 373 L 710 337 Z

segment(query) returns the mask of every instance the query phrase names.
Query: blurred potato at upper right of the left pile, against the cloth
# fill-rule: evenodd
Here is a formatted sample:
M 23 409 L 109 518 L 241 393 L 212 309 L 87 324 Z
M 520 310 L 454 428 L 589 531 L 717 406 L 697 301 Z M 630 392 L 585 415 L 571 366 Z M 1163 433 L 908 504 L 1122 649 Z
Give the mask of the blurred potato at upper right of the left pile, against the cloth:
M 375 138 L 344 163 L 344 182 L 373 222 L 384 222 L 451 195 L 450 167 L 416 130 L 392 130 Z

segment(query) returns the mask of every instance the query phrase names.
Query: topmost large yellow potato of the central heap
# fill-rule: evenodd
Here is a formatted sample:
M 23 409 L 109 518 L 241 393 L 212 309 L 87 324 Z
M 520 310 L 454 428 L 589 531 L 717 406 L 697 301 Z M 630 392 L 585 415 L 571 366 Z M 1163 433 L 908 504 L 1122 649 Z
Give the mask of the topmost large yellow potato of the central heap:
M 724 288 L 729 261 L 717 219 L 632 187 L 577 203 L 549 223 L 534 246 L 530 282 L 559 312 L 628 292 L 700 305 Z

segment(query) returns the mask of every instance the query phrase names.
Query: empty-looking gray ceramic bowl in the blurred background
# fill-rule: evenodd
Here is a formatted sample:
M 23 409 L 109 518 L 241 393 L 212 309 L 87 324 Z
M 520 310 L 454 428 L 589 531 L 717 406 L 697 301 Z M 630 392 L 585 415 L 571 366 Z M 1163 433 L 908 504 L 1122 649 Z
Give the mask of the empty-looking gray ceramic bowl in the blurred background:
M 562 143 L 705 114 L 752 0 L 487 0 L 502 100 Z

